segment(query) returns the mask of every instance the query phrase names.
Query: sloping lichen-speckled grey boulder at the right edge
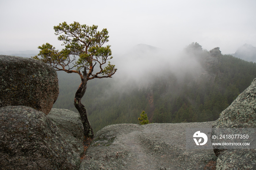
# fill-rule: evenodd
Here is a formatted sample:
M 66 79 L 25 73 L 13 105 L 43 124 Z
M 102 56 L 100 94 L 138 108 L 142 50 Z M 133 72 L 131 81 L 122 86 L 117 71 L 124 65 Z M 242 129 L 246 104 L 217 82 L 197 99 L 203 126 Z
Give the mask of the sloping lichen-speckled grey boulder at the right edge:
M 215 121 L 215 128 L 256 128 L 256 79 L 227 107 Z M 217 149 L 216 169 L 256 169 L 255 149 Z

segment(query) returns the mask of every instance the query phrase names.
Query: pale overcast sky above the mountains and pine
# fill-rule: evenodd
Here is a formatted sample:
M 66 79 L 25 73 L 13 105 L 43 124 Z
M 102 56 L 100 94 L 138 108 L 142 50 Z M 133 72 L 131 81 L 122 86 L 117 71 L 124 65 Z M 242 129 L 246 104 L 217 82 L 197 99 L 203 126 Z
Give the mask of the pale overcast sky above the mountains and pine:
M 61 49 L 53 26 L 107 28 L 113 53 L 140 43 L 179 50 L 192 42 L 234 53 L 256 46 L 256 0 L 0 0 L 0 51 Z

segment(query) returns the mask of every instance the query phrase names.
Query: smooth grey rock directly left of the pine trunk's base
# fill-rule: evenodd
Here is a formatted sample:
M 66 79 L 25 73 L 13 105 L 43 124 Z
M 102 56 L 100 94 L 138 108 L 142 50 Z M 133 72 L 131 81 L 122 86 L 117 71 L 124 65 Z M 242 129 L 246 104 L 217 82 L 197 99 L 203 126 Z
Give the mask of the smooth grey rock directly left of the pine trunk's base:
M 80 115 L 68 109 L 52 109 L 47 116 L 60 129 L 62 138 L 67 141 L 80 161 L 84 151 L 84 129 Z

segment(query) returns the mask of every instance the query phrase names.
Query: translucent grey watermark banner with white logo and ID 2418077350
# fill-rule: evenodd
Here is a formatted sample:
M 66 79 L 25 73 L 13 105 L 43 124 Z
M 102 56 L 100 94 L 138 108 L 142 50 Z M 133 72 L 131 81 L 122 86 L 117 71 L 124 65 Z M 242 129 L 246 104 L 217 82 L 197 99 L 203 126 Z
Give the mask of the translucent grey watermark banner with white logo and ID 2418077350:
M 186 128 L 186 149 L 256 149 L 256 128 Z

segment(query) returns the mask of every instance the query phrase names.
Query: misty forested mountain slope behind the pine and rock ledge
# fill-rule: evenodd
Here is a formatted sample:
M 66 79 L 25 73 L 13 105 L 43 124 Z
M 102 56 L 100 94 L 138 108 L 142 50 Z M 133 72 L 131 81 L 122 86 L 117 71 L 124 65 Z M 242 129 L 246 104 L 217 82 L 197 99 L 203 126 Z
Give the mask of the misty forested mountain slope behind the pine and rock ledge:
M 256 77 L 256 63 L 198 43 L 172 55 L 139 45 L 112 62 L 118 68 L 113 78 L 89 81 L 83 97 L 95 132 L 109 124 L 139 123 L 142 111 L 154 123 L 216 120 Z M 76 111 L 80 77 L 58 72 L 58 78 L 53 107 Z

